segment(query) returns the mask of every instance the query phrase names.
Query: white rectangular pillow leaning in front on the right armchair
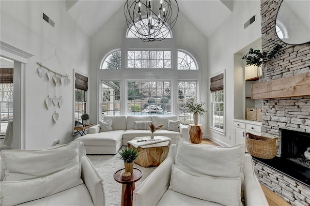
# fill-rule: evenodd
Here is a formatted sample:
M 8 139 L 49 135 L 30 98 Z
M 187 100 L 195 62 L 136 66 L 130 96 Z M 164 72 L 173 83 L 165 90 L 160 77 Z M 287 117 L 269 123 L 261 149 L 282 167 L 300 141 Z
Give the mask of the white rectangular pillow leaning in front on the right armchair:
M 241 178 L 210 177 L 172 165 L 169 189 L 225 206 L 242 206 Z

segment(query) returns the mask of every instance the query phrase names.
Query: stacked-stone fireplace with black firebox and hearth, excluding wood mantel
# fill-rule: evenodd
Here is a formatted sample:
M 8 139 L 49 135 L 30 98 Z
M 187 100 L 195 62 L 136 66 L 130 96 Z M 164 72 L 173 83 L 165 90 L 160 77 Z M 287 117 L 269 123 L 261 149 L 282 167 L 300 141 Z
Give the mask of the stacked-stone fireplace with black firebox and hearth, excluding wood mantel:
M 261 0 L 262 49 L 276 44 L 285 50 L 265 71 L 266 81 L 310 72 L 310 44 L 285 44 L 276 35 L 275 20 L 282 0 Z M 260 182 L 294 206 L 310 205 L 310 169 L 295 162 L 310 147 L 310 96 L 263 100 L 262 134 L 279 137 L 277 157 L 254 158 Z

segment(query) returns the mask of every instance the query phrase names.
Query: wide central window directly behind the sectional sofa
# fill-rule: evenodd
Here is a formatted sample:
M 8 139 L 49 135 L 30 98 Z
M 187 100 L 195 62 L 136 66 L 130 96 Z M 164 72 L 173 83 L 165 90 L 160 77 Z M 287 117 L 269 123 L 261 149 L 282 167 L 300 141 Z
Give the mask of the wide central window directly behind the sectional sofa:
M 127 82 L 128 115 L 170 115 L 171 82 Z

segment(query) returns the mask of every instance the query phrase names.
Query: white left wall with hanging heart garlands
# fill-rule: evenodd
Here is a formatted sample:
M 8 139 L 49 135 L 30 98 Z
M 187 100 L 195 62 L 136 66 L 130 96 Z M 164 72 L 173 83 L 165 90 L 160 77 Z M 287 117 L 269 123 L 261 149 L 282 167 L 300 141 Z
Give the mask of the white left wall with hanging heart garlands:
M 61 144 L 72 140 L 75 82 L 73 69 L 88 74 L 90 40 L 66 12 L 66 1 L 0 1 L 2 42 L 31 53 L 26 67 L 25 148 L 49 147 L 54 139 Z M 42 19 L 42 12 L 54 22 L 51 27 Z M 57 56 L 53 57 L 57 50 Z M 52 58 L 51 58 L 52 57 Z M 54 87 L 52 81 L 40 78 L 36 62 L 43 62 L 51 70 L 69 74 L 69 86 Z M 52 105 L 47 110 L 44 100 L 62 95 L 62 108 Z M 52 114 L 59 113 L 58 123 Z

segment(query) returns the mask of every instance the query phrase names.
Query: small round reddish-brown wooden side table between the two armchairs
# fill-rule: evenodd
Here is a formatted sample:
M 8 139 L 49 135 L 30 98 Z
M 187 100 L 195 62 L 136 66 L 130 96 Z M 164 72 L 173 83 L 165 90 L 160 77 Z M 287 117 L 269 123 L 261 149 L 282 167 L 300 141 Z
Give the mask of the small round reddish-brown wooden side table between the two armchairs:
M 134 168 L 130 179 L 122 179 L 122 174 L 125 169 L 116 171 L 113 175 L 115 181 L 122 183 L 122 202 L 121 206 L 132 206 L 132 192 L 135 190 L 135 182 L 137 182 L 143 175 L 142 171 L 138 168 Z

